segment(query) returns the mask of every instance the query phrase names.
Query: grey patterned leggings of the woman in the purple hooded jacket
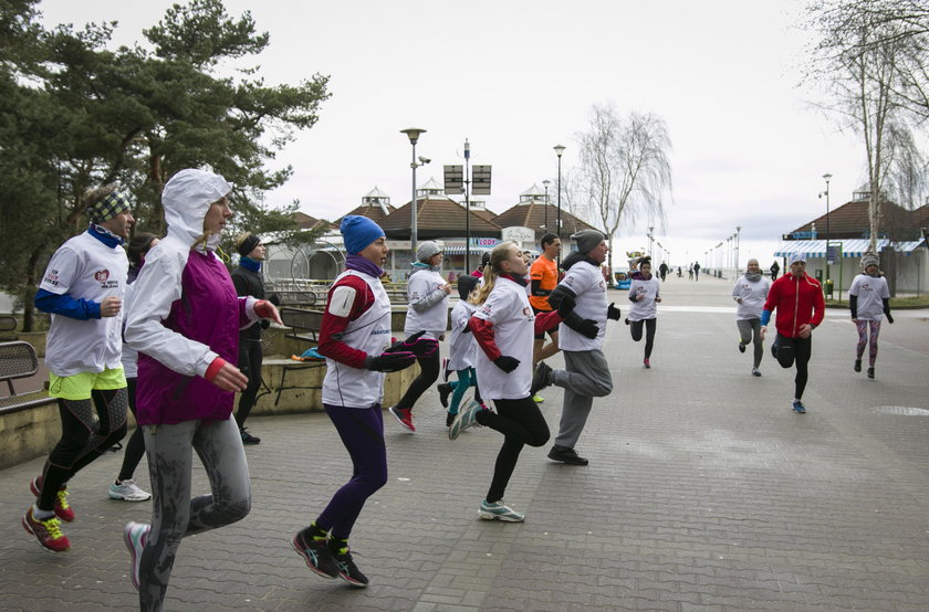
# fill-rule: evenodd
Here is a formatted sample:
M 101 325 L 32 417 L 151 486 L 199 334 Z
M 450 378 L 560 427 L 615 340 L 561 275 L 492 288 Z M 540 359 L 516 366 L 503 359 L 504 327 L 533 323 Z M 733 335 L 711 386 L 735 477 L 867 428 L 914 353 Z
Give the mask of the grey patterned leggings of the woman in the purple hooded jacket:
M 180 540 L 236 523 L 251 508 L 251 483 L 236 421 L 146 425 L 152 478 L 152 531 L 139 561 L 140 610 L 161 610 Z M 194 452 L 210 481 L 210 495 L 190 497 Z

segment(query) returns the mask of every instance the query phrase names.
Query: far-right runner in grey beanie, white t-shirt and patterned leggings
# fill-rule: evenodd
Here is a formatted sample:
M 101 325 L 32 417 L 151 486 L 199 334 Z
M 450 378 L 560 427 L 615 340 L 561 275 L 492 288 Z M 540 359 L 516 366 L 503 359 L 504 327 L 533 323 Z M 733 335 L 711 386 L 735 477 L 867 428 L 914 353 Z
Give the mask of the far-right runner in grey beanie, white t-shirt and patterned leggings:
M 890 316 L 890 289 L 887 281 L 878 270 L 877 255 L 866 253 L 862 257 L 862 274 L 852 281 L 848 289 L 848 307 L 852 309 L 852 321 L 858 329 L 858 346 L 855 348 L 855 371 L 862 371 L 862 357 L 865 346 L 868 349 L 868 378 L 874 378 L 874 365 L 877 361 L 877 337 L 880 336 L 880 321 L 887 316 L 887 323 L 893 324 Z M 868 334 L 870 327 L 870 334 Z

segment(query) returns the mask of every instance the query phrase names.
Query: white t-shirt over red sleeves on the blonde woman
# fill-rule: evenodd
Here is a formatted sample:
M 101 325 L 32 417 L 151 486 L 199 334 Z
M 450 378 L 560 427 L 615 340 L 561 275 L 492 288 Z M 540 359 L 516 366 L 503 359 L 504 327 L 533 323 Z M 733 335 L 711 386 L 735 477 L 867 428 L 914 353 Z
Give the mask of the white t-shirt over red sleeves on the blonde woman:
M 529 305 L 524 287 L 509 278 L 498 278 L 487 302 L 474 312 L 474 317 L 493 325 L 493 338 L 502 355 L 520 360 L 516 369 L 507 373 L 494 366 L 479 347 L 474 369 L 480 381 L 481 397 L 490 400 L 528 398 L 532 386 L 535 314 Z

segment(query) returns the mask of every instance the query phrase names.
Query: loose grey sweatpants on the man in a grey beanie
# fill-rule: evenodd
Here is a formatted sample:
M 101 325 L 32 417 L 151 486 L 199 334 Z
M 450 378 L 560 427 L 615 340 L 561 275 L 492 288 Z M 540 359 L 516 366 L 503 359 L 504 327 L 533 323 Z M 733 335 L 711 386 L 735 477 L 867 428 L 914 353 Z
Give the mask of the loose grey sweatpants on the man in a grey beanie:
M 613 392 L 613 378 L 609 363 L 603 351 L 565 350 L 564 370 L 552 372 L 552 384 L 564 389 L 564 405 L 559 425 L 555 446 L 574 449 L 587 415 L 594 404 L 594 398 L 602 398 Z

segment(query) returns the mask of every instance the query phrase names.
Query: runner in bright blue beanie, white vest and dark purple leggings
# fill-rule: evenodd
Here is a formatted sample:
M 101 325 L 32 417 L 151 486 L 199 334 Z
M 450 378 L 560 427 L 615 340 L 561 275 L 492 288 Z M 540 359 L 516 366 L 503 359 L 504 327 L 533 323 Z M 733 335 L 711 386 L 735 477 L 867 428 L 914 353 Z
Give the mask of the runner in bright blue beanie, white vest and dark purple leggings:
M 326 358 L 323 408 L 352 457 L 352 478 L 291 545 L 319 576 L 366 587 L 368 579 L 352 558 L 348 536 L 368 497 L 387 484 L 384 372 L 411 366 L 414 349 L 437 351 L 438 346 L 417 339 L 392 344 L 390 298 L 380 283 L 380 266 L 390 252 L 384 230 L 366 217 L 348 214 L 340 231 L 348 257 L 330 288 L 317 350 Z

